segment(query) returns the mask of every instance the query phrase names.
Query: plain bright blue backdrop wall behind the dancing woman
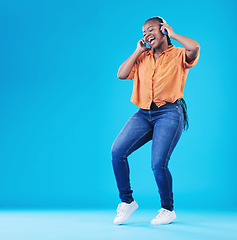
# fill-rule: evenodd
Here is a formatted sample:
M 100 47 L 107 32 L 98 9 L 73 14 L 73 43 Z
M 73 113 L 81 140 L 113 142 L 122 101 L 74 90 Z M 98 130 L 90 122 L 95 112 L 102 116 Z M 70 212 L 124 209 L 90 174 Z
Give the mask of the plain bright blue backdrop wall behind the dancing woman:
M 0 1 L 0 207 L 115 208 L 111 145 L 138 107 L 117 78 L 162 16 L 201 46 L 190 128 L 171 160 L 176 208 L 237 209 L 235 1 Z M 181 44 L 172 40 L 175 46 Z M 129 157 L 134 198 L 160 207 L 151 142 Z

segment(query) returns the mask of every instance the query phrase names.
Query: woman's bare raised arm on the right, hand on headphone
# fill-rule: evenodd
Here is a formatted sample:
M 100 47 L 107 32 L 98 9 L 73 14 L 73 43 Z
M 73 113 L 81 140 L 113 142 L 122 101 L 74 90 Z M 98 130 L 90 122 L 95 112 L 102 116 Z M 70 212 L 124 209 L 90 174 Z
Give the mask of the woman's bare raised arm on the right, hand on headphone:
M 200 51 L 200 45 L 195 40 L 179 35 L 174 32 L 173 28 L 169 26 L 167 23 L 161 23 L 162 27 L 161 30 L 164 31 L 165 29 L 168 32 L 168 36 L 176 41 L 180 42 L 186 48 L 186 61 L 189 63 L 193 61 L 198 52 Z

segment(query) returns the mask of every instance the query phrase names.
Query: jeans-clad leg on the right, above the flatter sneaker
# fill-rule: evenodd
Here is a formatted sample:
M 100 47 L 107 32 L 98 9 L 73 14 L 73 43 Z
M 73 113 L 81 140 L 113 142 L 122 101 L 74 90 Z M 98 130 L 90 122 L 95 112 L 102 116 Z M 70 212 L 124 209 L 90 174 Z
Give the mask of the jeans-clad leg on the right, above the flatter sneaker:
M 168 169 L 170 156 L 183 131 L 180 104 L 164 109 L 154 125 L 151 165 L 161 198 L 161 207 L 173 210 L 172 176 Z

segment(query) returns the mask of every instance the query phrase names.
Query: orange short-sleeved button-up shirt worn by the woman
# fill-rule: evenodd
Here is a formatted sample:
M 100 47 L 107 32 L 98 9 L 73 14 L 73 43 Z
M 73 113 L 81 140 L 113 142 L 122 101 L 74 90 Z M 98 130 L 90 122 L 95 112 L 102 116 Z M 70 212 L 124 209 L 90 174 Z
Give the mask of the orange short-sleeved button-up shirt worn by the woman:
M 198 53 L 192 62 L 187 63 L 185 51 L 185 48 L 169 45 L 156 62 L 154 49 L 143 52 L 125 79 L 134 79 L 130 101 L 139 108 L 150 109 L 152 101 L 160 107 L 166 102 L 181 99 L 189 68 L 195 66 L 199 59 Z

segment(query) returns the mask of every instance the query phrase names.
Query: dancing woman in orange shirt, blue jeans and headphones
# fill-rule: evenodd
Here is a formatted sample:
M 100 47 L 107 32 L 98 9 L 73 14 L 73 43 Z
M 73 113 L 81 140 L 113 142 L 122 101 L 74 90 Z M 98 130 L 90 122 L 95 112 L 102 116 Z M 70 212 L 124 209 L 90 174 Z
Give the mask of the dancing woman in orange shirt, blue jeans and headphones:
M 115 224 L 124 223 L 138 208 L 132 197 L 127 157 L 150 140 L 151 166 L 161 199 L 161 209 L 151 224 L 168 224 L 176 218 L 168 162 L 188 125 L 183 90 L 189 68 L 199 59 L 200 46 L 195 40 L 176 34 L 161 17 L 146 20 L 143 35 L 135 52 L 118 71 L 118 78 L 134 79 L 131 102 L 139 110 L 127 121 L 111 148 L 121 199 Z M 184 48 L 172 45 L 170 38 Z

